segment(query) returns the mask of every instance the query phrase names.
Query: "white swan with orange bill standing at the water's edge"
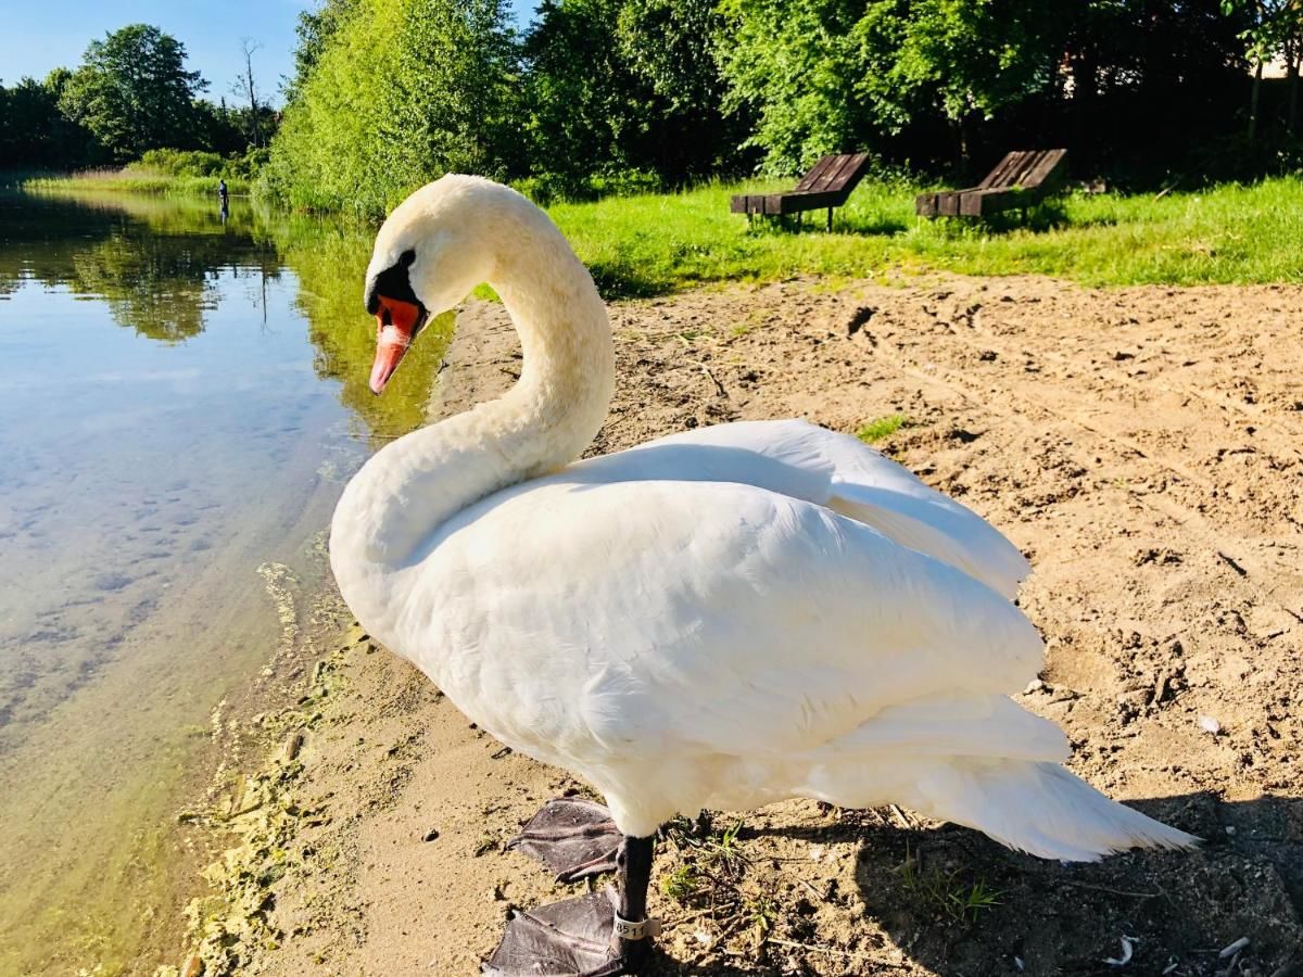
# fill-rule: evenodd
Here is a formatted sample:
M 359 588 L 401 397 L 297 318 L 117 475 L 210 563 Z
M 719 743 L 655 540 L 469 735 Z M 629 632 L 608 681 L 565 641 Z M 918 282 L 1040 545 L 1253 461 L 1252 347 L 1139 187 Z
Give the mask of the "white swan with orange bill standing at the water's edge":
M 567 878 L 618 847 L 615 912 L 598 895 L 519 914 L 487 970 L 633 965 L 653 835 L 679 812 L 898 802 L 1084 861 L 1194 842 L 1059 766 L 1063 733 L 1009 698 L 1041 667 L 1010 602 L 1027 563 L 899 465 L 800 421 L 576 462 L 612 392 L 610 326 L 513 190 L 447 176 L 384 223 L 377 393 L 427 315 L 481 281 L 520 332 L 519 383 L 367 461 L 331 565 L 362 624 L 468 716 L 610 805 L 554 801 L 520 844 Z

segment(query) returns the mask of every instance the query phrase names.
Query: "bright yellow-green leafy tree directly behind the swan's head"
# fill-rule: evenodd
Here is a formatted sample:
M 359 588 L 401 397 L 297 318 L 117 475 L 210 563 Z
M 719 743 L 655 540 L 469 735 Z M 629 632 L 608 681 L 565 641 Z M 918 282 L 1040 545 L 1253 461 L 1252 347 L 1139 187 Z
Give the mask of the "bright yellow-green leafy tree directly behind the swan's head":
M 503 0 L 356 0 L 339 13 L 272 142 L 274 198 L 374 216 L 450 171 L 508 173 L 520 139 Z

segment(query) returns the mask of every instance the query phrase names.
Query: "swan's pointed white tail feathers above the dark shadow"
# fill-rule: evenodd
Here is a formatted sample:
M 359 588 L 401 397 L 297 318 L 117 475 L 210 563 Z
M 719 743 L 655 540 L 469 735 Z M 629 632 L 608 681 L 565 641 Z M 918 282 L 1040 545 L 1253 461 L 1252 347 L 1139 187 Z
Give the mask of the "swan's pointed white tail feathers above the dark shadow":
M 920 778 L 920 810 L 1003 845 L 1062 861 L 1128 848 L 1191 848 L 1199 839 L 1096 791 L 1058 763 L 960 762 Z

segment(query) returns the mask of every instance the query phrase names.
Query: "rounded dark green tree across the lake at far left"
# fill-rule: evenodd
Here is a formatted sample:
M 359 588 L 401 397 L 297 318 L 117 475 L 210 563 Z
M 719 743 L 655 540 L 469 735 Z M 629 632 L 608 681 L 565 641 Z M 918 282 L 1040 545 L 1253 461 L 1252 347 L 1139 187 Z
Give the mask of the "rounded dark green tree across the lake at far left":
M 194 98 L 205 89 L 199 73 L 185 69 L 181 42 L 133 23 L 90 43 L 59 104 L 115 159 L 128 160 L 151 149 L 197 147 Z

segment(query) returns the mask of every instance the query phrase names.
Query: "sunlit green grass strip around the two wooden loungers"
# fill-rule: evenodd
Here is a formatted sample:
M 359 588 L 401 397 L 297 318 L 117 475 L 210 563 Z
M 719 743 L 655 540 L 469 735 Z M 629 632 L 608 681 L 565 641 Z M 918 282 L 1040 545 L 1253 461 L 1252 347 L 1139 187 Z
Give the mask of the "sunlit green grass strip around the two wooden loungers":
M 870 277 L 889 270 L 1041 274 L 1088 285 L 1303 281 L 1303 181 L 1278 177 L 1196 193 L 1072 194 L 1018 221 L 988 227 L 915 216 L 923 188 L 861 184 L 805 229 L 748 228 L 728 212 L 739 190 L 711 184 L 678 194 L 556 203 L 549 212 L 607 297 L 662 294 L 702 283 L 796 275 Z M 812 223 L 813 221 L 813 223 Z

